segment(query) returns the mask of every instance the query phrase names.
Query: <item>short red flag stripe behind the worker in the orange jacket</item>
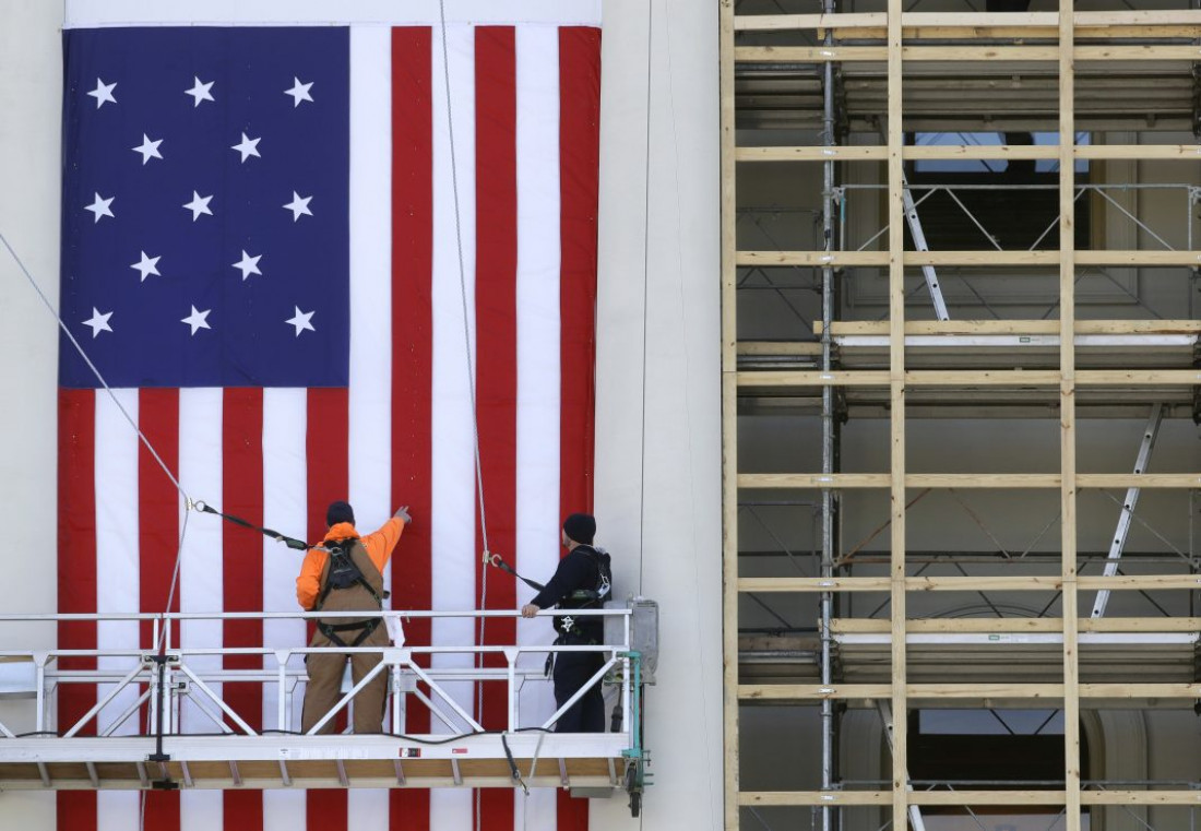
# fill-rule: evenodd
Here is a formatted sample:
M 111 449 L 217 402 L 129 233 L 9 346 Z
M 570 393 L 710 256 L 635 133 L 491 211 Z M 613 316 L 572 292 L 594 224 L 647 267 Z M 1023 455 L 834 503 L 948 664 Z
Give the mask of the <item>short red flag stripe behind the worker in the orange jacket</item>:
M 306 502 L 309 539 L 325 536 L 325 509 L 349 494 L 349 394 L 343 389 L 310 389 L 309 425 L 305 431 L 307 466 Z M 363 528 L 364 532 L 374 528 Z M 297 572 L 300 563 L 297 563 Z M 346 711 L 337 717 L 337 729 L 346 725 Z M 310 790 L 306 795 L 309 827 L 322 831 L 346 831 L 347 799 L 345 790 Z

